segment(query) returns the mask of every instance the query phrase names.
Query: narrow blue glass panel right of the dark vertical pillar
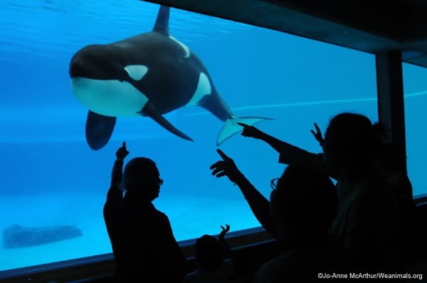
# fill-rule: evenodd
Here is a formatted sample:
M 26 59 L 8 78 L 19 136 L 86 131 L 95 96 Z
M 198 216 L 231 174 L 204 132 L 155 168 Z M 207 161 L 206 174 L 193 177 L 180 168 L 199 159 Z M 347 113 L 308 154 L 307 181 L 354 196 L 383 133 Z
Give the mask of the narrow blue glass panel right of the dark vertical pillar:
M 404 63 L 404 103 L 406 127 L 406 162 L 413 195 L 427 193 L 426 132 L 427 68 Z

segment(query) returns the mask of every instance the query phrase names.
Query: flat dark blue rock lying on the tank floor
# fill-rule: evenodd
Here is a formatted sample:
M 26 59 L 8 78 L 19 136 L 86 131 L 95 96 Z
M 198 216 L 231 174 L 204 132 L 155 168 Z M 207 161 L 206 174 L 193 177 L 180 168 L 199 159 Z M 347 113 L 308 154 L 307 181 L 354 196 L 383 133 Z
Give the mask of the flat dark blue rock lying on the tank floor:
M 11 225 L 3 230 L 3 247 L 32 247 L 82 236 L 78 227 L 55 225 L 47 227 L 22 227 Z

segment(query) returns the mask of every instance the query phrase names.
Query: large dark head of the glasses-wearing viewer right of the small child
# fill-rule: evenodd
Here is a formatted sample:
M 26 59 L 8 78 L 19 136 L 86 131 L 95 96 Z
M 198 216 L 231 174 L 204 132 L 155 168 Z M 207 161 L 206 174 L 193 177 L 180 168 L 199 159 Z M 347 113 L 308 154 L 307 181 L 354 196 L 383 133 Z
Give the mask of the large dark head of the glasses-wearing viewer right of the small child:
M 301 165 L 288 165 L 270 194 L 275 229 L 288 245 L 322 242 L 337 214 L 338 197 L 328 175 Z

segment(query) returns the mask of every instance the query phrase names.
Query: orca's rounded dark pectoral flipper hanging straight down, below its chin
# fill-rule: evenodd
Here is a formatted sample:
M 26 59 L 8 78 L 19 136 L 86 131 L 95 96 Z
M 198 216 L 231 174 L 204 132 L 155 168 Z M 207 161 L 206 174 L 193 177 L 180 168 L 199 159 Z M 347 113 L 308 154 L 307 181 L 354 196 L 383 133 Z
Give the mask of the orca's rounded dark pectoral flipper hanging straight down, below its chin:
M 110 140 L 115 126 L 115 117 L 88 111 L 86 119 L 86 141 L 93 150 L 103 148 Z

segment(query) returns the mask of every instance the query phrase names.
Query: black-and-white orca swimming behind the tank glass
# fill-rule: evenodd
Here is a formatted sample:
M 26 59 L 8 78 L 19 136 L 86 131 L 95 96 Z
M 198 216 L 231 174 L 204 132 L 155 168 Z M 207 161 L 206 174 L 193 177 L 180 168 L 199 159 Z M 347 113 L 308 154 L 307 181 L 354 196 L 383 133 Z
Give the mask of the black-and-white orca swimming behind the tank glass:
M 192 140 L 163 114 L 200 106 L 224 122 L 216 145 L 243 130 L 238 122 L 270 119 L 233 115 L 201 60 L 169 34 L 168 6 L 160 6 L 152 31 L 81 48 L 71 58 L 69 73 L 75 98 L 88 108 L 85 137 L 93 150 L 108 143 L 120 116 L 147 116 Z

